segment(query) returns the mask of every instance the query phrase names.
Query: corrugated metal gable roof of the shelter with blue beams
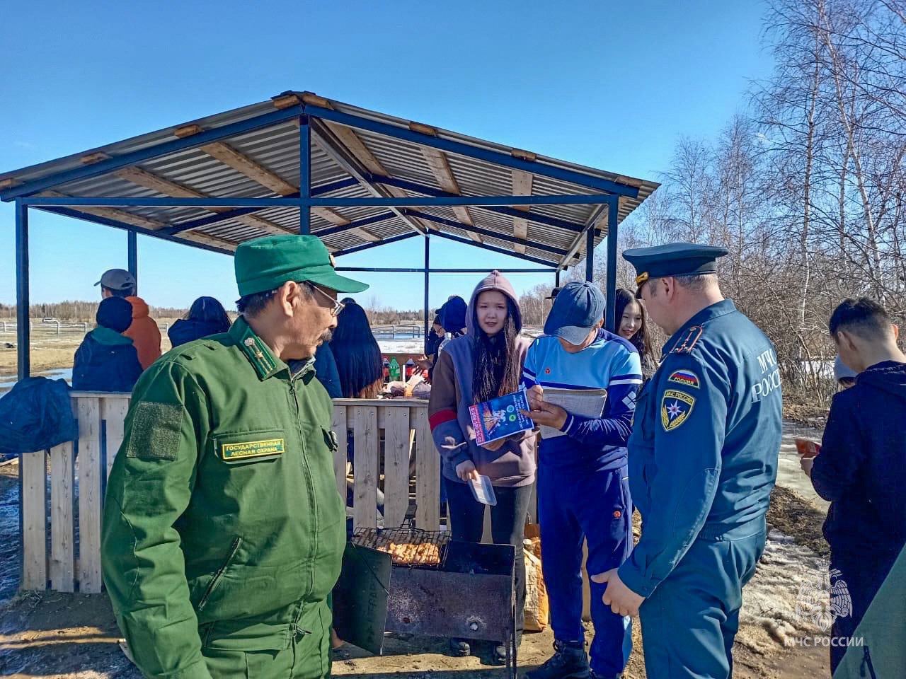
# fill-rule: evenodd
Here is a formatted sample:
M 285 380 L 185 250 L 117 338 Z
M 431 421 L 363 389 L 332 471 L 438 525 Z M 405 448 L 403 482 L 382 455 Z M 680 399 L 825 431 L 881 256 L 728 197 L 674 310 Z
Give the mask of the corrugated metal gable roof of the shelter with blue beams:
M 0 198 L 225 253 L 309 208 L 335 254 L 427 233 L 565 267 L 658 186 L 291 91 L 4 173 Z

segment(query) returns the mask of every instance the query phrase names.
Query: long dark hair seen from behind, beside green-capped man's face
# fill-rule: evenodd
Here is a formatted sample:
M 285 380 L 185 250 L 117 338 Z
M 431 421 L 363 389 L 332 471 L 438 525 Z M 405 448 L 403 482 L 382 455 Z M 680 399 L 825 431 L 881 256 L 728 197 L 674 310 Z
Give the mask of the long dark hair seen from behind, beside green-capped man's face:
M 346 301 L 337 315 L 331 350 L 337 361 L 342 397 L 358 398 L 383 377 L 378 340 L 374 339 L 365 310 L 352 300 Z

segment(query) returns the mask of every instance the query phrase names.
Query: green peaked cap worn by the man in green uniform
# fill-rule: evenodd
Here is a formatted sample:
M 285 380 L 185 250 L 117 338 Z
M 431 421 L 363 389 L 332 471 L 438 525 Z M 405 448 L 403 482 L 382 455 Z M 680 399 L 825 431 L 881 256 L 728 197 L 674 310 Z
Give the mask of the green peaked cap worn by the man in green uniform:
M 311 281 L 336 292 L 368 290 L 367 283 L 336 273 L 333 256 L 316 235 L 266 235 L 246 241 L 236 248 L 233 264 L 243 297 L 287 281 Z

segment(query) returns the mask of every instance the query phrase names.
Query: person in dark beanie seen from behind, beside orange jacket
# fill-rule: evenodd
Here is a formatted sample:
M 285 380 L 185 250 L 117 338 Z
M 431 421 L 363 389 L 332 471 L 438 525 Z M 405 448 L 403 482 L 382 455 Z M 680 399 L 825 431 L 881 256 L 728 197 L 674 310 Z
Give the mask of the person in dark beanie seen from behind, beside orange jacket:
M 132 339 L 121 333 L 132 322 L 132 305 L 108 297 L 98 305 L 98 327 L 85 335 L 75 351 L 72 388 L 77 391 L 131 391 L 141 375 Z

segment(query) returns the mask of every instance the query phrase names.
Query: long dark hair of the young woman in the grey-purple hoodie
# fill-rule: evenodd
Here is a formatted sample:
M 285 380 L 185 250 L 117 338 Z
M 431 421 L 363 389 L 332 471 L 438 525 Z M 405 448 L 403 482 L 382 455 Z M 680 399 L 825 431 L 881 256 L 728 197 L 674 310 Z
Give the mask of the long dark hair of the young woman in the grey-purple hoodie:
M 484 291 L 483 291 L 484 292 Z M 472 328 L 475 329 L 475 372 L 472 374 L 472 397 L 475 403 L 490 398 L 511 394 L 519 388 L 522 367 L 516 354 L 516 307 L 506 298 L 506 320 L 504 327 L 494 335 L 488 335 L 478 325 L 476 295 L 472 304 Z

